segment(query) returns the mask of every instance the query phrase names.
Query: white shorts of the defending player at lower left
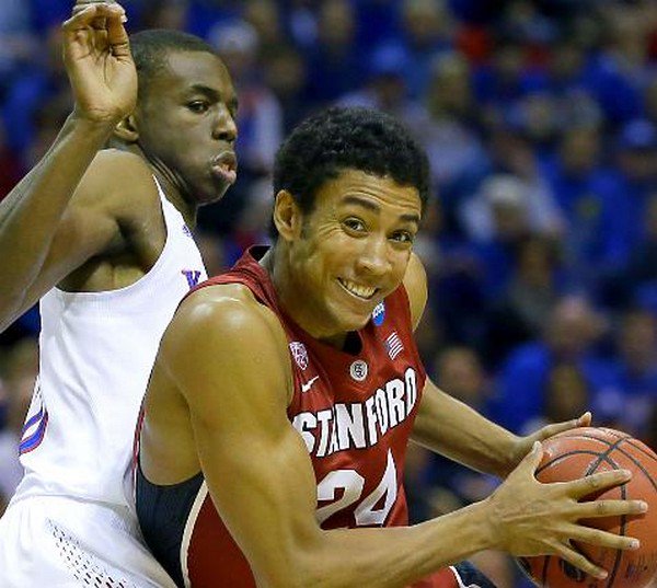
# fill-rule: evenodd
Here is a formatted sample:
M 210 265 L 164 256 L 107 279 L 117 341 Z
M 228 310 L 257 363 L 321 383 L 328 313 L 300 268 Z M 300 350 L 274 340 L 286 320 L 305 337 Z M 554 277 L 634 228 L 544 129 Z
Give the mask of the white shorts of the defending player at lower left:
M 33 496 L 0 519 L 0 587 L 44 586 L 175 588 L 127 508 Z

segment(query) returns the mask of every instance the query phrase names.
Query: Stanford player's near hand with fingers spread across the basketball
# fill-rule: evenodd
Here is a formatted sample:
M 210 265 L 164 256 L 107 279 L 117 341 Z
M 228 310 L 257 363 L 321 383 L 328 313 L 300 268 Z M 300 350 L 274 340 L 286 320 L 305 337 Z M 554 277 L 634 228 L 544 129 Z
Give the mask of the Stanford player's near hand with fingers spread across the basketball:
M 543 450 L 539 442 L 497 491 L 486 498 L 488 531 L 497 549 L 516 556 L 556 555 L 585 573 L 602 578 L 606 572 L 588 561 L 572 541 L 610 549 L 633 549 L 634 539 L 581 524 L 583 519 L 637 515 L 641 500 L 583 498 L 627 482 L 630 472 L 596 473 L 574 482 L 541 484 L 534 476 Z

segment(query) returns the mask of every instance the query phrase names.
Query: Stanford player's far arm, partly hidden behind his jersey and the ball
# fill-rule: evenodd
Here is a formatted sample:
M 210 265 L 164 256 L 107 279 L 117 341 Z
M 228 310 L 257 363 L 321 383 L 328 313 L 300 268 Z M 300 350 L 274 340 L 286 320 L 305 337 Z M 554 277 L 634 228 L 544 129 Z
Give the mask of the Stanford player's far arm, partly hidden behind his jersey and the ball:
M 428 298 L 426 273 L 416 255 L 411 257 L 404 287 L 415 328 Z M 586 413 L 577 419 L 549 425 L 527 437 L 518 437 L 438 389 L 427 379 L 413 429 L 413 440 L 475 470 L 505 476 L 520 463 L 535 441 L 589 424 L 590 414 Z

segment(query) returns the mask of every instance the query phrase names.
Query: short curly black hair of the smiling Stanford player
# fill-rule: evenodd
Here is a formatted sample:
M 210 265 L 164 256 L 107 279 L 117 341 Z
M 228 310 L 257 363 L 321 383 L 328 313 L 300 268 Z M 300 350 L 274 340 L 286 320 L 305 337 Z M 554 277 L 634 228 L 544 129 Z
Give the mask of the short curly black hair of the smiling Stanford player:
M 331 107 L 297 126 L 276 154 L 274 194 L 289 192 L 304 214 L 315 195 L 345 170 L 359 170 L 413 186 L 424 210 L 429 164 L 411 132 L 392 116 L 371 108 Z M 272 237 L 277 231 L 272 228 Z

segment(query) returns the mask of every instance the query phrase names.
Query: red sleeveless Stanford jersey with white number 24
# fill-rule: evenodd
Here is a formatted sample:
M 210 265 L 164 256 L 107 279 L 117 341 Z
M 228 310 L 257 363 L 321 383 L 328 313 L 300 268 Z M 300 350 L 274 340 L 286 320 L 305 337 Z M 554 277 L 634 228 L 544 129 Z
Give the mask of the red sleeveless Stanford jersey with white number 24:
M 350 354 L 313 339 L 285 314 L 267 270 L 252 252 L 198 288 L 243 284 L 278 315 L 293 372 L 288 417 L 312 461 L 319 523 L 323 529 L 407 524 L 404 461 L 426 372 L 413 339 L 404 287 L 377 305 L 368 324 L 356 333 L 359 351 Z M 253 253 L 262 256 L 263 252 Z M 180 546 L 185 586 L 255 587 L 205 483 L 199 482 L 188 510 Z M 416 588 L 458 586 L 451 568 L 414 584 Z

